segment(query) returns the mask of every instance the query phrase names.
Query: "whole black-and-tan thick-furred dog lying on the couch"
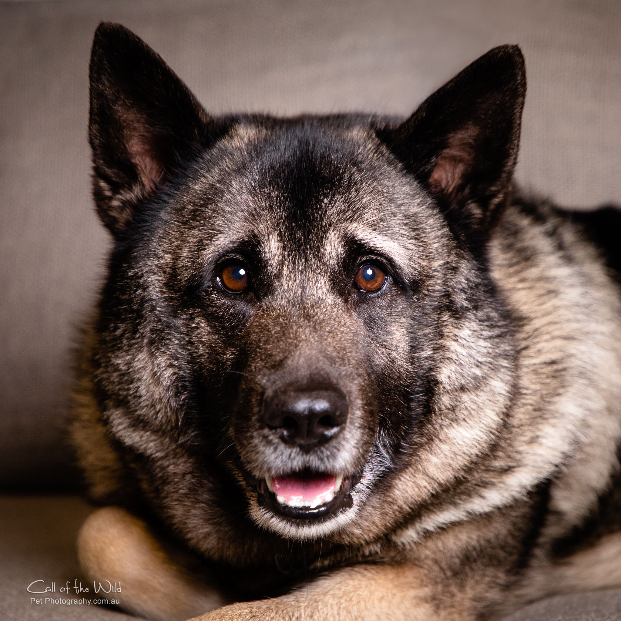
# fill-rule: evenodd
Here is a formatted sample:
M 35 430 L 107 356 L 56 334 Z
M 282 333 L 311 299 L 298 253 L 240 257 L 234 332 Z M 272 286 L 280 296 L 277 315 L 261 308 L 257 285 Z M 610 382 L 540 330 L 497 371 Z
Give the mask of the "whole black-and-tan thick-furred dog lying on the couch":
M 89 576 L 204 621 L 621 584 L 621 219 L 512 183 L 518 47 L 407 119 L 210 116 L 115 24 L 90 80 L 114 247 L 73 410 Z

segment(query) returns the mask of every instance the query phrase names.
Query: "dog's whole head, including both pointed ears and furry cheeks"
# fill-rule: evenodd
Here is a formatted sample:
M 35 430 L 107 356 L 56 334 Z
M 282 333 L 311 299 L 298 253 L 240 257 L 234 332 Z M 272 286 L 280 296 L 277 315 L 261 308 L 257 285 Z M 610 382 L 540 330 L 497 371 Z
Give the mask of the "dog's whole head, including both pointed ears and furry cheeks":
M 194 545 L 248 517 L 371 538 L 493 441 L 511 352 L 484 238 L 523 96 L 499 48 L 401 124 L 212 119 L 137 37 L 97 30 L 94 193 L 116 238 L 97 394 Z M 490 411 L 463 420 L 464 400 Z

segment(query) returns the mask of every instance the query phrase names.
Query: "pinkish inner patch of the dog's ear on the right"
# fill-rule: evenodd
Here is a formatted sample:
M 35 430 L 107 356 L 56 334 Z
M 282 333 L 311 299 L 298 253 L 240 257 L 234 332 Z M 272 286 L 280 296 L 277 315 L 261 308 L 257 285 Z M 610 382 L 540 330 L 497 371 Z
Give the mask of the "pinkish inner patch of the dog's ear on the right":
M 448 138 L 448 147 L 440 152 L 429 176 L 428 184 L 433 193 L 456 197 L 466 173 L 471 168 L 477 134 L 476 127 L 468 125 Z

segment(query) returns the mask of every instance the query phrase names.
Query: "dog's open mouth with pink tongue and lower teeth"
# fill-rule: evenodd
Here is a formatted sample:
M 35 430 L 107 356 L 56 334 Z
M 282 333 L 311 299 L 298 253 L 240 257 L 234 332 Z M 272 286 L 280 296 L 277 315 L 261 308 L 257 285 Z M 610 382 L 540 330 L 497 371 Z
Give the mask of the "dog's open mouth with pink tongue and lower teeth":
M 293 519 L 313 520 L 353 505 L 351 488 L 360 475 L 302 471 L 284 476 L 267 476 L 259 482 L 259 504 L 276 514 Z

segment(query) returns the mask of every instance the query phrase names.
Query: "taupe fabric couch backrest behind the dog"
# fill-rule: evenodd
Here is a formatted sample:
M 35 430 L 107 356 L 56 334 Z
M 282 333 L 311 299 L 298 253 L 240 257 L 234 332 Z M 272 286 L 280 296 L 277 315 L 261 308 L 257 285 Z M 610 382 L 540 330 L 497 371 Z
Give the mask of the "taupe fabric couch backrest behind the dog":
M 567 206 L 621 202 L 621 2 L 0 3 L 0 484 L 62 486 L 69 348 L 108 240 L 89 197 L 89 48 L 122 22 L 211 112 L 407 114 L 489 48 L 528 70 L 517 176 Z

